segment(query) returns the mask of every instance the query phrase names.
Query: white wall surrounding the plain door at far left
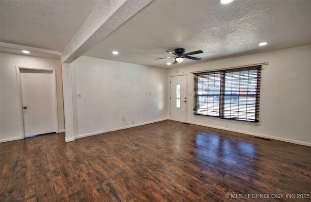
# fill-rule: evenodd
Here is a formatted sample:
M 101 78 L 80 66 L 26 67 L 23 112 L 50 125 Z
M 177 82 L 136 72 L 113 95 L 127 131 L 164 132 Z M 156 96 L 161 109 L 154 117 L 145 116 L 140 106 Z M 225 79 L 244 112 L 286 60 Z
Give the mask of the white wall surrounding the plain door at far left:
M 0 52 L 0 142 L 23 138 L 19 114 L 16 66 L 56 69 L 58 128 L 64 131 L 61 61 L 27 55 Z

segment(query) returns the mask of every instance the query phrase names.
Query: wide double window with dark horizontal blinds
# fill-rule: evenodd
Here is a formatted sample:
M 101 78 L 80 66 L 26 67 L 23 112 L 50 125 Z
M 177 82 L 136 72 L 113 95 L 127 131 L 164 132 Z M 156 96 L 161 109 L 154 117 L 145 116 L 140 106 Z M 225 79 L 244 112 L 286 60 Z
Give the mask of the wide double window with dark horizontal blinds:
M 258 122 L 260 70 L 255 66 L 194 73 L 194 114 Z

